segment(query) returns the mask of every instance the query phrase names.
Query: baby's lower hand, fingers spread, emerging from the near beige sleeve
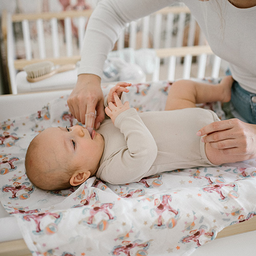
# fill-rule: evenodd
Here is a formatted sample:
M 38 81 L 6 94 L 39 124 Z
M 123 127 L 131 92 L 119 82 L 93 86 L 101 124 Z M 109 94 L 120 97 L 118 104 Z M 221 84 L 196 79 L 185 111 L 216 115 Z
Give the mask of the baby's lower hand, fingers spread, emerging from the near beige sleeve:
M 114 103 L 110 102 L 109 106 L 105 108 L 105 113 L 108 115 L 112 122 L 115 124 L 115 120 L 119 114 L 124 112 L 125 110 L 130 109 L 129 102 L 125 101 L 124 104 L 119 99 L 116 92 L 113 93 Z

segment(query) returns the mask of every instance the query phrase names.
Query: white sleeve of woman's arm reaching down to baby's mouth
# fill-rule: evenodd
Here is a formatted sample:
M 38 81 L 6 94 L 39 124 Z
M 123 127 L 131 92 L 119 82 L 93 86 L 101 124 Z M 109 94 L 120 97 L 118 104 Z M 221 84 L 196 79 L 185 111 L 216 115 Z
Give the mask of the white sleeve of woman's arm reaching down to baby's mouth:
M 113 49 L 122 28 L 174 2 L 173 0 L 105 0 L 98 3 L 87 24 L 79 74 L 102 77 L 104 61 Z

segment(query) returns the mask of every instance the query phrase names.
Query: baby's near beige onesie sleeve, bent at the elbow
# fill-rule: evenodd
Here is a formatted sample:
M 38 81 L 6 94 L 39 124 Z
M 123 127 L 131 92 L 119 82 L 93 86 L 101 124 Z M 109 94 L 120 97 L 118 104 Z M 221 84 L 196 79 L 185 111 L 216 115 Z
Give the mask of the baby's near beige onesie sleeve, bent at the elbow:
M 123 147 L 100 172 L 100 179 L 111 184 L 140 181 L 157 157 L 157 144 L 135 109 L 118 115 L 115 126 L 123 134 Z

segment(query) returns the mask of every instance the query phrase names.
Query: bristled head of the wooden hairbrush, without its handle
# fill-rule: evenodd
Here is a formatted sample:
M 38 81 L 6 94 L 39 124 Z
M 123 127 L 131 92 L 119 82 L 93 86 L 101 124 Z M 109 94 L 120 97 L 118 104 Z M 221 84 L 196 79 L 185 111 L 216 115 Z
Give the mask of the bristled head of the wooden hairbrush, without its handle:
M 46 74 L 49 74 L 52 71 L 53 62 L 51 61 L 42 61 L 37 62 L 31 65 L 24 67 L 29 78 L 36 78 Z

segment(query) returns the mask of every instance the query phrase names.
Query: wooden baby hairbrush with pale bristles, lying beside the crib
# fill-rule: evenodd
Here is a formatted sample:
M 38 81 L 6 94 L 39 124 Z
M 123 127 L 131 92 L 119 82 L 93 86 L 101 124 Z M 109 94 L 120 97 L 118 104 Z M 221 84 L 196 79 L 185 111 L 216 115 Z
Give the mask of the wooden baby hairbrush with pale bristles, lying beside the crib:
M 63 65 L 56 69 L 53 69 L 53 66 L 54 64 L 51 61 L 42 61 L 25 66 L 24 70 L 27 73 L 27 80 L 29 82 L 38 82 L 40 80 L 49 78 L 54 74 L 76 68 L 75 64 Z

